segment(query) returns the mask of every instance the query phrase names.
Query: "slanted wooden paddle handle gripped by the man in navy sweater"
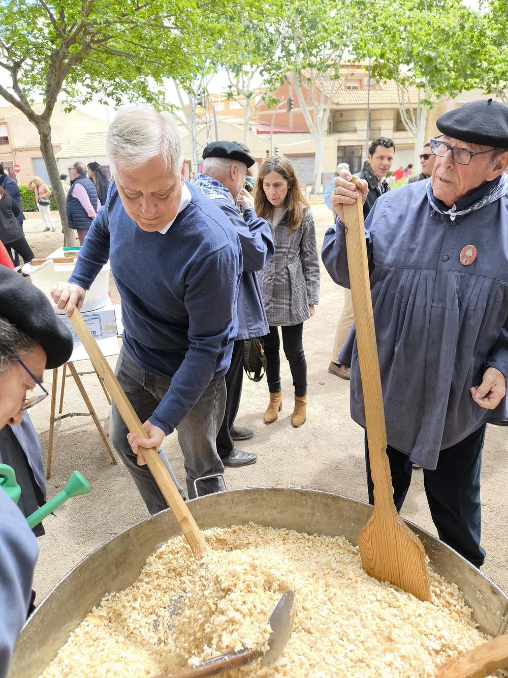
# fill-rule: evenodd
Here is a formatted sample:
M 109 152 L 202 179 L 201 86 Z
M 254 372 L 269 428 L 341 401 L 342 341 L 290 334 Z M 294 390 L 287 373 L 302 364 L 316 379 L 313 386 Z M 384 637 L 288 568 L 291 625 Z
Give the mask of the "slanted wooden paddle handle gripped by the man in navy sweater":
M 88 329 L 87 324 L 81 317 L 79 311 L 74 311 L 69 318 L 74 327 L 79 340 L 85 347 L 89 359 L 93 367 L 95 368 L 98 376 L 104 382 L 112 401 L 117 407 L 117 410 L 120 412 L 120 416 L 125 422 L 125 426 L 129 429 L 130 433 L 134 433 L 138 438 L 146 438 L 146 430 L 142 423 L 140 422 L 139 417 L 134 412 L 134 409 L 127 400 L 127 396 L 123 393 L 123 390 L 117 380 L 117 377 L 114 376 L 110 364 L 102 355 L 102 351 L 97 345 L 96 340 L 91 335 L 90 330 Z M 189 543 L 190 548 L 194 557 L 198 558 L 203 552 L 207 549 L 207 542 L 205 542 L 205 537 L 200 532 L 192 513 L 186 506 L 186 503 L 180 496 L 169 471 L 164 465 L 163 460 L 158 456 L 158 452 L 155 447 L 143 448 L 143 456 L 150 468 L 155 482 L 157 483 L 159 489 L 163 493 L 165 500 L 167 501 L 169 508 L 173 511 L 173 515 L 177 520 L 179 526 L 182 528 L 182 532 L 185 535 L 186 540 Z

